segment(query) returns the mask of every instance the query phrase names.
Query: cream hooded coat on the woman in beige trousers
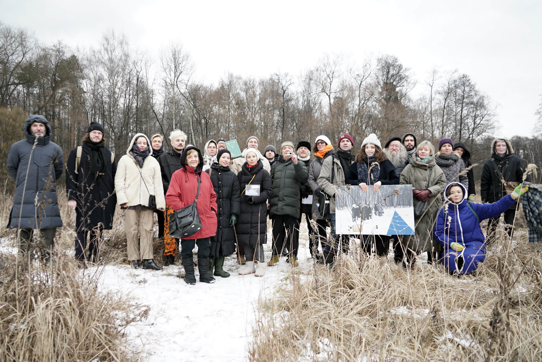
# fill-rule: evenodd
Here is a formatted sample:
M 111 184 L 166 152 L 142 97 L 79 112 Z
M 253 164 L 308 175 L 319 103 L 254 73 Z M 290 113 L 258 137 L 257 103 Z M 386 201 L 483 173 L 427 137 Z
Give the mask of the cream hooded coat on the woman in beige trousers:
M 132 146 L 139 136 L 147 139 L 151 152 L 145 158 L 143 168 L 139 169 L 138 164 L 132 156 Z M 162 174 L 158 161 L 151 157 L 152 147 L 149 138 L 143 133 L 134 135 L 126 154 L 122 156 L 117 165 L 115 174 L 115 191 L 117 192 L 117 203 L 125 206 L 143 205 L 149 206 L 149 193 L 156 196 L 156 205 L 159 210 L 165 210 L 164 188 L 162 186 Z M 141 178 L 143 176 L 143 178 Z M 146 185 L 146 187 L 145 187 Z M 147 191 L 149 189 L 149 191 Z

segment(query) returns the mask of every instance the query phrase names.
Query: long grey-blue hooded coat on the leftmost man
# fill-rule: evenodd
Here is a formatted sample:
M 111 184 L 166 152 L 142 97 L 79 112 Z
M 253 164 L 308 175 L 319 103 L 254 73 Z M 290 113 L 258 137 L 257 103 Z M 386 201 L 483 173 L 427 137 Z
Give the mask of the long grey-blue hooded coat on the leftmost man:
M 44 137 L 30 132 L 34 122 L 45 125 Z M 8 228 L 52 229 L 62 227 L 56 180 L 62 176 L 62 148 L 51 138 L 51 126 L 42 115 L 30 114 L 23 126 L 26 139 L 11 145 L 7 168 L 15 180 L 15 195 Z M 35 147 L 34 147 L 35 144 Z

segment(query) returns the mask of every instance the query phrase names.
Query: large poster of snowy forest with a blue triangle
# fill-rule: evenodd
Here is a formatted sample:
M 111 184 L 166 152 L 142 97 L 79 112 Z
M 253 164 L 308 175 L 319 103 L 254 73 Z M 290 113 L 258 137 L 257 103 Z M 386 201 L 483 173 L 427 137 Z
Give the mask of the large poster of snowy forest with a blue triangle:
M 335 186 L 337 234 L 414 235 L 412 185 Z

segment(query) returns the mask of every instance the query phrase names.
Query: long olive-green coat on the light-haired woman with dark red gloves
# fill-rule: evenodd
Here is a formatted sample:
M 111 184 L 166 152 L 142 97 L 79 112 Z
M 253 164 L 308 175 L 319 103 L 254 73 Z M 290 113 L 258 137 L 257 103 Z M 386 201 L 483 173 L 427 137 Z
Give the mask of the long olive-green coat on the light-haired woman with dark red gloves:
M 427 182 L 429 169 L 431 170 L 431 178 Z M 400 185 L 412 185 L 412 188 L 417 190 L 429 190 L 429 209 L 420 219 L 415 219 L 416 235 L 405 235 L 403 244 L 406 248 L 423 253 L 430 251 L 431 248 L 440 250 L 440 244 L 433 241 L 433 224 L 437 211 L 441 208 L 442 203 L 438 197 L 444 186 L 446 186 L 446 176 L 440 167 L 435 163 L 435 157 L 431 156 L 427 162 L 422 161 L 418 157 L 412 157 L 410 164 L 406 165 L 401 172 Z M 427 184 L 427 187 L 426 187 Z

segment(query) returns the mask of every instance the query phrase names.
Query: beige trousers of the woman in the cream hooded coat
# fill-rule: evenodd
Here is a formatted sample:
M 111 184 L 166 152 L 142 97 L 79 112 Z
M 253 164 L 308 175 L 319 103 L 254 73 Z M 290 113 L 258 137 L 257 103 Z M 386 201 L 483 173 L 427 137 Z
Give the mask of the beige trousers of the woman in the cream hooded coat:
M 131 210 L 124 213 L 128 260 L 152 259 L 152 238 L 154 236 L 154 211 Z M 138 248 L 139 234 L 139 248 Z

